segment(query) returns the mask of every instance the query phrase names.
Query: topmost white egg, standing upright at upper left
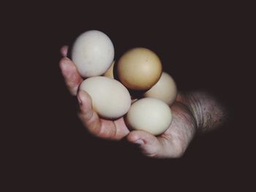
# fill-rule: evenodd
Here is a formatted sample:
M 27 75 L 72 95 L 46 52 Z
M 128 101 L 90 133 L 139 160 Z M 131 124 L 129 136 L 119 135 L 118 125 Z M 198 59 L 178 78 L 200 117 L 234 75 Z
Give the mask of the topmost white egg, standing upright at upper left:
M 71 58 L 82 77 L 102 75 L 112 64 L 113 43 L 101 31 L 86 31 L 75 40 Z

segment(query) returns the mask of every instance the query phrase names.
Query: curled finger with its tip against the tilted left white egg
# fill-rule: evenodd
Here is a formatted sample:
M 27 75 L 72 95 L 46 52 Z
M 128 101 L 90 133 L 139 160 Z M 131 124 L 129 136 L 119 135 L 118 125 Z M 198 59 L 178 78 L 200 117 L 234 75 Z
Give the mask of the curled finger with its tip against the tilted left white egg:
M 94 112 L 91 102 L 91 96 L 85 91 L 78 92 L 78 102 L 80 105 L 79 118 L 91 134 L 99 135 L 102 123 L 99 116 Z

